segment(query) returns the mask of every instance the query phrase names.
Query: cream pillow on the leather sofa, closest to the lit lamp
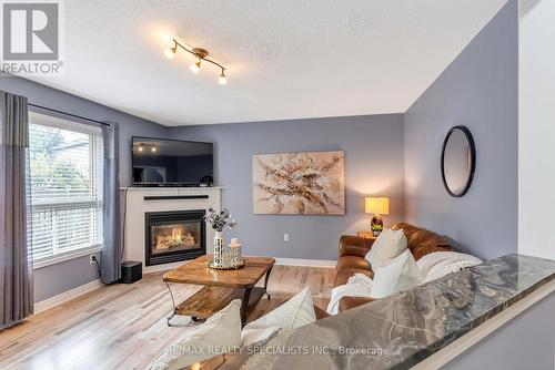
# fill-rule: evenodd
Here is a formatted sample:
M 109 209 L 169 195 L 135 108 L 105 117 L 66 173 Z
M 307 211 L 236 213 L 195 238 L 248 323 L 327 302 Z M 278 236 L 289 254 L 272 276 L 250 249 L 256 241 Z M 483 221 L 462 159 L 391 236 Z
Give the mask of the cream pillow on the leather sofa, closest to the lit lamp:
M 403 230 L 384 229 L 366 254 L 366 260 L 375 273 L 376 268 L 387 265 L 406 250 L 407 241 Z

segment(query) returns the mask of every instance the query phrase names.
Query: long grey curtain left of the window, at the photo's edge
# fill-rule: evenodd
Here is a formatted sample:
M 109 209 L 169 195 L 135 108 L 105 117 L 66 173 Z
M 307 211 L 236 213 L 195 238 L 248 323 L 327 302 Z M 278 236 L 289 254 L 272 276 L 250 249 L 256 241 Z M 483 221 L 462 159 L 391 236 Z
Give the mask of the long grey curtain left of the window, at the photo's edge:
M 0 91 L 0 328 L 6 328 L 33 312 L 33 282 L 27 247 L 27 97 Z

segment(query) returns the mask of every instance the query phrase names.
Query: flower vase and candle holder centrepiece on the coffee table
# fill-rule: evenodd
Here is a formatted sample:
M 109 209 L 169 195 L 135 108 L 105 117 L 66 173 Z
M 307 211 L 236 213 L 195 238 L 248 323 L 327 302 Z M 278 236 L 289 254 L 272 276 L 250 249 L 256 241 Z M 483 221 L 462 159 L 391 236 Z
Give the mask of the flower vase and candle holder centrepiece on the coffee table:
M 209 266 L 216 269 L 232 269 L 243 266 L 243 259 L 241 257 L 231 258 L 232 257 L 232 253 L 230 250 L 231 245 L 230 247 L 225 247 L 223 244 L 222 232 L 224 227 L 229 226 L 230 228 L 232 228 L 236 225 L 235 219 L 231 218 L 230 210 L 223 208 L 222 210 L 218 212 L 213 208 L 209 208 L 208 214 L 204 216 L 204 220 L 209 223 L 215 230 L 214 255 Z M 234 238 L 234 240 L 235 244 L 239 243 L 236 238 Z M 239 249 L 239 253 L 241 253 L 241 249 Z

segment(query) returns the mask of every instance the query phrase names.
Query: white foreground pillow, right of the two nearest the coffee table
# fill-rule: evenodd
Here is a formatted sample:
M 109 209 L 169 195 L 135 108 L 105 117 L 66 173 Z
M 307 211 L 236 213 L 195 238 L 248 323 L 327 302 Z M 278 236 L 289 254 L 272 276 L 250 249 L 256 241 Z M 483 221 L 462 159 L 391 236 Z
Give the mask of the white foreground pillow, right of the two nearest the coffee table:
M 304 288 L 273 311 L 248 323 L 241 333 L 241 345 L 249 346 L 270 338 L 281 329 L 293 330 L 314 321 L 316 321 L 316 314 L 311 291 Z

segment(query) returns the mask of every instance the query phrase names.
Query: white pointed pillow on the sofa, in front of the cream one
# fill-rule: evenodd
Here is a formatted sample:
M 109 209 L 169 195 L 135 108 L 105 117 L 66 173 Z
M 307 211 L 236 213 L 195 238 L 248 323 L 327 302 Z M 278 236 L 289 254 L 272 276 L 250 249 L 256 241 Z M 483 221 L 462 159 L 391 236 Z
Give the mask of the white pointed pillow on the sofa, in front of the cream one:
M 389 265 L 374 270 L 372 298 L 383 298 L 394 292 L 412 289 L 423 280 L 411 250 L 406 249 Z

